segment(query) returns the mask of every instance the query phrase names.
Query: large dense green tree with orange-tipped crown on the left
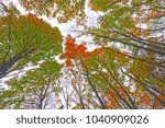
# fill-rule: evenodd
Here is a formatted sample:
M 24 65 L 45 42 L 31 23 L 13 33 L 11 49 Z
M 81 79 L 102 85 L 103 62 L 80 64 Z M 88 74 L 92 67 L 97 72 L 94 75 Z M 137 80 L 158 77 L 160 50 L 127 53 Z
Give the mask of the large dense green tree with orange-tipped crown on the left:
M 7 8 L 7 7 L 6 7 Z M 36 15 L 7 10 L 0 18 L 0 79 L 28 63 L 51 59 L 62 50 L 62 35 Z

